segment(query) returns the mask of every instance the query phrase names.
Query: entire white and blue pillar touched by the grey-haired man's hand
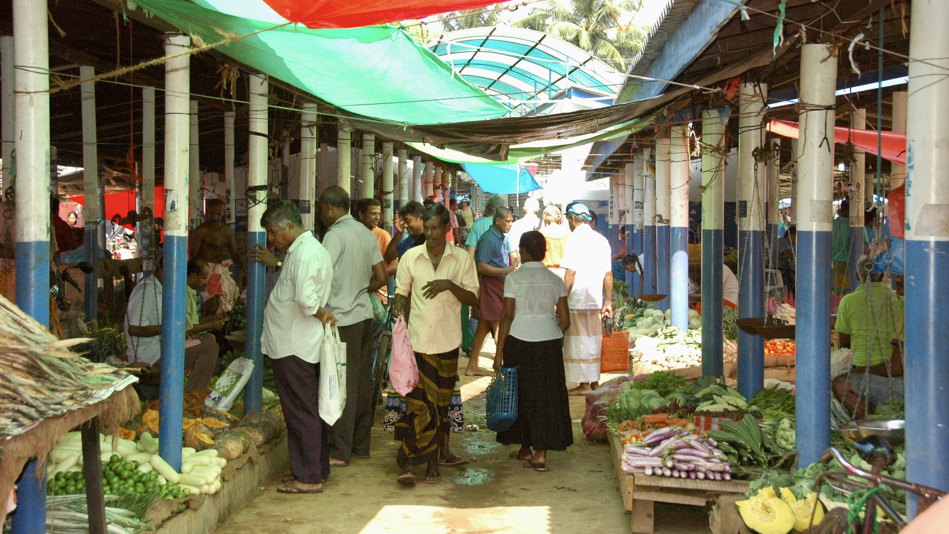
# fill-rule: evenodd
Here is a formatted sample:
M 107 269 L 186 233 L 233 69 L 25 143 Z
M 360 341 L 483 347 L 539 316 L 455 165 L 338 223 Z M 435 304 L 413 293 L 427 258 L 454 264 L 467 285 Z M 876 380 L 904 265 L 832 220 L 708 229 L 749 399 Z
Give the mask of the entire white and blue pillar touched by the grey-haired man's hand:
M 270 93 L 270 82 L 265 74 L 251 74 L 248 84 L 251 92 L 251 105 L 248 111 L 248 125 L 250 140 L 248 141 L 247 155 L 247 185 L 267 185 L 267 96 Z M 349 138 L 348 130 L 340 130 L 340 144 L 343 145 L 343 134 Z M 346 162 L 346 172 L 341 175 L 344 180 L 338 185 L 349 189 L 349 155 L 348 147 L 341 148 L 337 156 Z M 247 245 L 249 250 L 255 244 L 267 246 L 266 229 L 260 225 L 260 218 L 267 211 L 267 203 L 263 201 L 266 193 L 258 192 L 257 200 L 248 199 L 247 209 Z M 244 411 L 262 410 L 262 395 L 264 388 L 264 358 L 260 353 L 260 336 L 264 332 L 264 304 L 267 292 L 264 281 L 264 265 L 255 261 L 248 262 L 247 268 L 247 342 L 245 353 L 253 362 L 253 373 L 244 387 Z

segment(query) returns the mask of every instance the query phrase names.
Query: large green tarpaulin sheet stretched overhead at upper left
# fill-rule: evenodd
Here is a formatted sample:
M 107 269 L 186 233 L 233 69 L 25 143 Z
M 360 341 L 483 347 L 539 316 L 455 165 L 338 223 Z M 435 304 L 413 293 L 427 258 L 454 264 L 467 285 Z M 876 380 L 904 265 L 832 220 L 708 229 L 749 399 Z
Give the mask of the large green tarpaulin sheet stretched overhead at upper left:
M 225 34 L 247 35 L 274 26 L 181 0 L 136 0 L 136 4 L 206 44 L 220 41 Z M 455 74 L 435 53 L 398 28 L 288 25 L 217 49 L 367 117 L 400 124 L 442 124 L 508 113 L 504 105 Z

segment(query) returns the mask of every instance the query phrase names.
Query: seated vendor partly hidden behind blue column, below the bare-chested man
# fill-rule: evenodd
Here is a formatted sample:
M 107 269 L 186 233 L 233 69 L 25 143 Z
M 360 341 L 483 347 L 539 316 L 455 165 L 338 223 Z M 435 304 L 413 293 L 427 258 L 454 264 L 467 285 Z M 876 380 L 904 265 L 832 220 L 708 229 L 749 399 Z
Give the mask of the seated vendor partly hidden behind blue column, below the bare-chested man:
M 207 284 L 209 268 L 207 263 L 198 261 L 188 262 L 188 286 L 196 290 Z M 161 283 L 162 262 L 158 261 L 157 269 L 151 276 L 143 278 L 132 295 L 128 298 L 128 309 L 125 312 L 125 340 L 128 344 L 128 361 L 137 367 L 152 367 L 158 371 L 161 367 Z M 196 296 L 196 292 L 195 292 Z M 220 329 L 223 319 L 219 316 L 202 321 L 197 317 L 197 304 L 186 301 L 186 333 L 185 337 L 194 337 L 195 334 L 207 330 Z M 197 320 L 195 321 L 195 317 Z M 204 319 L 208 319 L 205 317 Z M 204 334 L 195 340 L 185 341 L 184 368 L 190 375 L 184 392 L 207 390 L 211 387 L 211 377 L 214 366 L 217 365 L 217 343 L 214 335 Z

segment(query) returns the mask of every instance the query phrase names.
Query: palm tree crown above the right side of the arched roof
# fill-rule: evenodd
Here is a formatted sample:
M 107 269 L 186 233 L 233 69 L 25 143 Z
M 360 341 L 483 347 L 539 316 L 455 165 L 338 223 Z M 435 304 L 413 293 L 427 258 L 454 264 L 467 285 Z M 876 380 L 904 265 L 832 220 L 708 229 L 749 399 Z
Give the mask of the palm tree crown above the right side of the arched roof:
M 642 48 L 646 28 L 621 26 L 624 15 L 641 0 L 570 0 L 571 10 L 557 2 L 533 10 L 512 26 L 544 31 L 585 49 L 612 67 L 625 70 L 626 60 Z

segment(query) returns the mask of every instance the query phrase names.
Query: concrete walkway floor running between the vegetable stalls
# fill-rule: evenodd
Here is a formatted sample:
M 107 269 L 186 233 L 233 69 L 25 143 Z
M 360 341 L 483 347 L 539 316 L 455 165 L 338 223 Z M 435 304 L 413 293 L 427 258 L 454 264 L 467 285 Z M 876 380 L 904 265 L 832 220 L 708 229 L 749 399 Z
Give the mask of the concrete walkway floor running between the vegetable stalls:
M 493 356 L 487 343 L 482 356 Z M 467 366 L 459 361 L 459 368 Z M 488 368 L 491 360 L 481 358 Z M 478 431 L 452 435 L 452 449 L 471 460 L 465 467 L 441 467 L 440 484 L 405 488 L 396 483 L 398 448 L 392 433 L 379 425 L 372 433 L 372 458 L 353 458 L 349 467 L 333 469 L 326 491 L 315 495 L 284 495 L 275 491 L 285 467 L 255 491 L 217 534 L 576 534 L 629 532 L 609 448 L 590 444 L 580 429 L 583 397 L 571 397 L 574 445 L 550 452 L 547 472 L 526 470 L 508 458 L 516 447 L 494 441 L 486 429 L 481 393 L 490 378 L 463 378 L 465 424 Z M 707 533 L 704 508 L 656 505 L 657 534 Z

